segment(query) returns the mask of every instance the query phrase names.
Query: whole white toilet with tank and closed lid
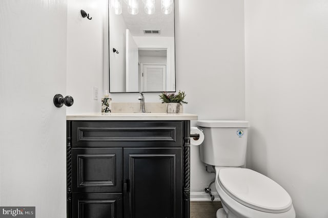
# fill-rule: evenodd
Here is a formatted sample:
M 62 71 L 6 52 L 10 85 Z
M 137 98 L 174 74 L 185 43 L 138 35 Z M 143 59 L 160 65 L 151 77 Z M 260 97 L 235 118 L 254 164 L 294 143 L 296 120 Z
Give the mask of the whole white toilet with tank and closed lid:
M 203 120 L 202 162 L 215 167 L 215 187 L 223 208 L 217 218 L 290 218 L 295 210 L 290 195 L 276 182 L 245 164 L 248 121 Z

